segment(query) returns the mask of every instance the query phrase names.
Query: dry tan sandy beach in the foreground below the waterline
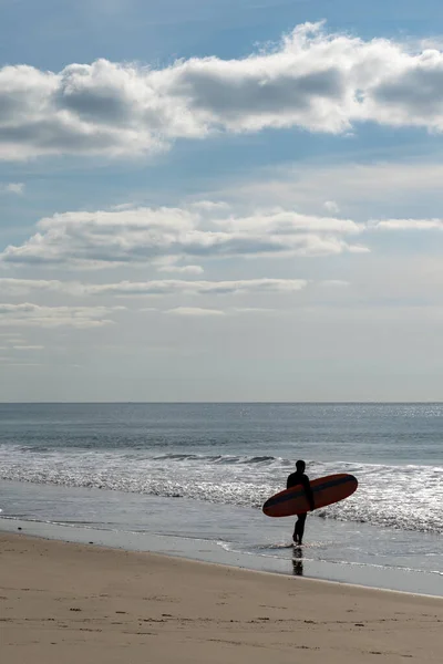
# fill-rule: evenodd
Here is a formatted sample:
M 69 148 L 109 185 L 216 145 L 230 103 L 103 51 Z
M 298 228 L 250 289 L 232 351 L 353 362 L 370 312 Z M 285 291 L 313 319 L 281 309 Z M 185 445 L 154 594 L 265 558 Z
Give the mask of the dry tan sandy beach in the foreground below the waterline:
M 443 599 L 0 535 L 1 664 L 439 663 Z

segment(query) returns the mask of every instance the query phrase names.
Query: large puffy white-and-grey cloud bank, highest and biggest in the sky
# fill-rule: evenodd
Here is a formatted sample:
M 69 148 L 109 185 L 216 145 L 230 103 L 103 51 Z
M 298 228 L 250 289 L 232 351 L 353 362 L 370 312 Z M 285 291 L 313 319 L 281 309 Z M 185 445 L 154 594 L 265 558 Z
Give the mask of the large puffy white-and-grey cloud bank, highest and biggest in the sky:
M 0 70 L 0 158 L 128 155 L 216 132 L 359 122 L 443 129 L 443 53 L 306 23 L 244 59 L 190 58 L 154 70 L 99 60 L 61 72 Z

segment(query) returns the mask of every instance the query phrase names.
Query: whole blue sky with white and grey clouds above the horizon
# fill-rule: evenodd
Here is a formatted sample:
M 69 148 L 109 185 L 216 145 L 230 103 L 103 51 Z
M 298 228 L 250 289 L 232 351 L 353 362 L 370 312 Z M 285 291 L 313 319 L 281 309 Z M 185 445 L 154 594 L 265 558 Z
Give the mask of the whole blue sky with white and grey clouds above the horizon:
M 0 0 L 0 401 L 443 401 L 443 6 Z

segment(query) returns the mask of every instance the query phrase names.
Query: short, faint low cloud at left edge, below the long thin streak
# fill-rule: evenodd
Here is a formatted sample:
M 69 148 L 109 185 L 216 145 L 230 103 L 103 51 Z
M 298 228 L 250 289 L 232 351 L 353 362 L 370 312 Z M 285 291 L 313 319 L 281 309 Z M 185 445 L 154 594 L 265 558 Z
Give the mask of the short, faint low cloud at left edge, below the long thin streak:
M 0 304 L 0 325 L 40 328 L 71 326 L 78 329 L 112 324 L 106 318 L 120 307 L 40 307 L 23 302 Z

